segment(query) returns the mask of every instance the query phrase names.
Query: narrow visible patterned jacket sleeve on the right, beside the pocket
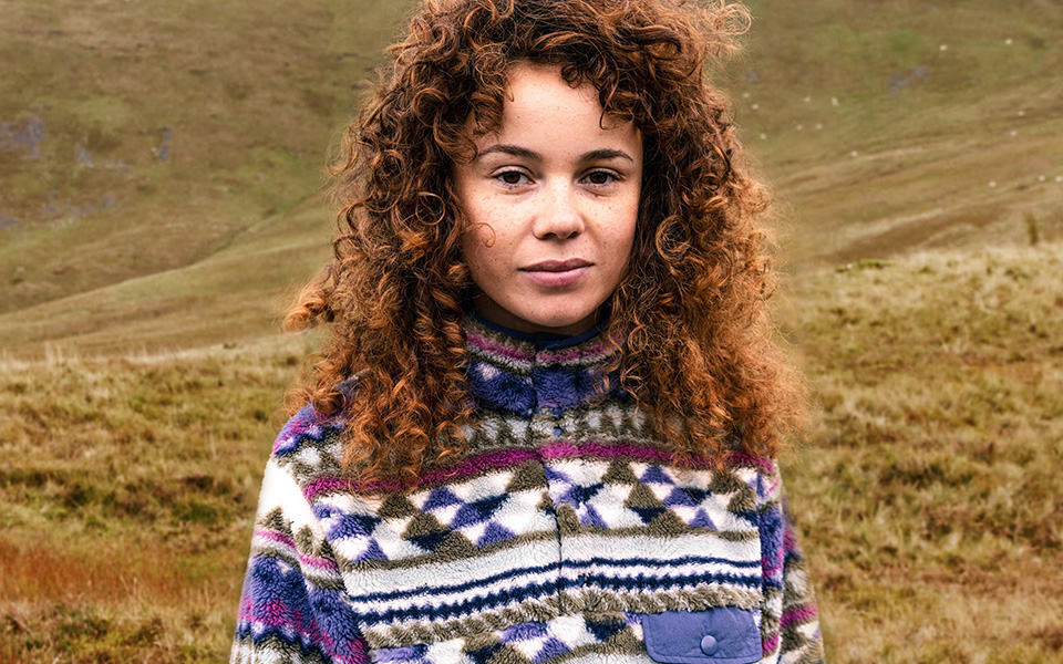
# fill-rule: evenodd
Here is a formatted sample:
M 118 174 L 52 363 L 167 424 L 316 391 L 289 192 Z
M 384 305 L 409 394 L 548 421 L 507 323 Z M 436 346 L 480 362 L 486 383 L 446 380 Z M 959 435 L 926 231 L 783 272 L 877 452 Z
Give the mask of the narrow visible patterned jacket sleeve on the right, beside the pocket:
M 764 657 L 777 655 L 784 664 L 824 662 L 816 600 L 787 510 L 778 465 L 773 461 L 772 471 L 761 481 Z

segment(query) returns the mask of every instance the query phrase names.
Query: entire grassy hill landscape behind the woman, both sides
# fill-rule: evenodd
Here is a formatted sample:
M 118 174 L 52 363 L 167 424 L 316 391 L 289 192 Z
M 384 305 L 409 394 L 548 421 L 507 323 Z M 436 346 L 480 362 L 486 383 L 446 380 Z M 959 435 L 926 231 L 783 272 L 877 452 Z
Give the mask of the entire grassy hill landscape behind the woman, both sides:
M 1063 2 L 750 0 L 833 662 L 1063 662 Z M 412 4 L 0 0 L 0 662 L 220 662 Z

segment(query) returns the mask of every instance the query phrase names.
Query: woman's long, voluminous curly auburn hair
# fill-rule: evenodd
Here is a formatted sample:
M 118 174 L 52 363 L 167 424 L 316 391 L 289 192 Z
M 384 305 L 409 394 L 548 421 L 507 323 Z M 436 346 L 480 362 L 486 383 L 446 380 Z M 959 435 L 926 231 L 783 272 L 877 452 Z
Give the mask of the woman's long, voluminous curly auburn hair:
M 415 480 L 466 444 L 461 323 L 472 282 L 452 172 L 475 155 L 471 126 L 499 127 L 507 72 L 520 62 L 594 85 L 605 112 L 643 136 L 632 256 L 606 330 L 620 352 L 607 371 L 680 460 L 776 454 L 802 390 L 764 308 L 775 282 L 760 222 L 770 196 L 750 174 L 726 97 L 705 81 L 706 62 L 722 63 L 747 23 L 726 0 L 423 3 L 333 165 L 333 260 L 285 322 L 331 329 L 288 403 L 350 408 L 344 464 L 360 484 Z M 349 398 L 337 384 L 355 374 Z

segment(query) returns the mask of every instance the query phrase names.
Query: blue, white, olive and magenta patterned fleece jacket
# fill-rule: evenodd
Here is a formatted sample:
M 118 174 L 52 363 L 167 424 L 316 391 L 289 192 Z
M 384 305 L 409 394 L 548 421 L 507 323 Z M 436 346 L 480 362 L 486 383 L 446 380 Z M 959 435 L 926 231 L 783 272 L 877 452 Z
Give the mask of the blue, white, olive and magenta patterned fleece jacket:
M 597 330 L 465 328 L 468 450 L 413 491 L 350 490 L 341 415 L 281 430 L 231 662 L 823 660 L 774 460 L 677 467 L 628 395 L 594 398 Z

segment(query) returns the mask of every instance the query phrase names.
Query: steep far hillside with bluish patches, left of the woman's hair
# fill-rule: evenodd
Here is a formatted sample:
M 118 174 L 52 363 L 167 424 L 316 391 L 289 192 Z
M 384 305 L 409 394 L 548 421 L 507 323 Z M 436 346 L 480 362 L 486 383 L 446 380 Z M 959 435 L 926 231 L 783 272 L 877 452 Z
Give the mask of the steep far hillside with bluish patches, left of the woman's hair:
M 406 9 L 0 8 L 0 312 L 197 263 L 312 196 Z

